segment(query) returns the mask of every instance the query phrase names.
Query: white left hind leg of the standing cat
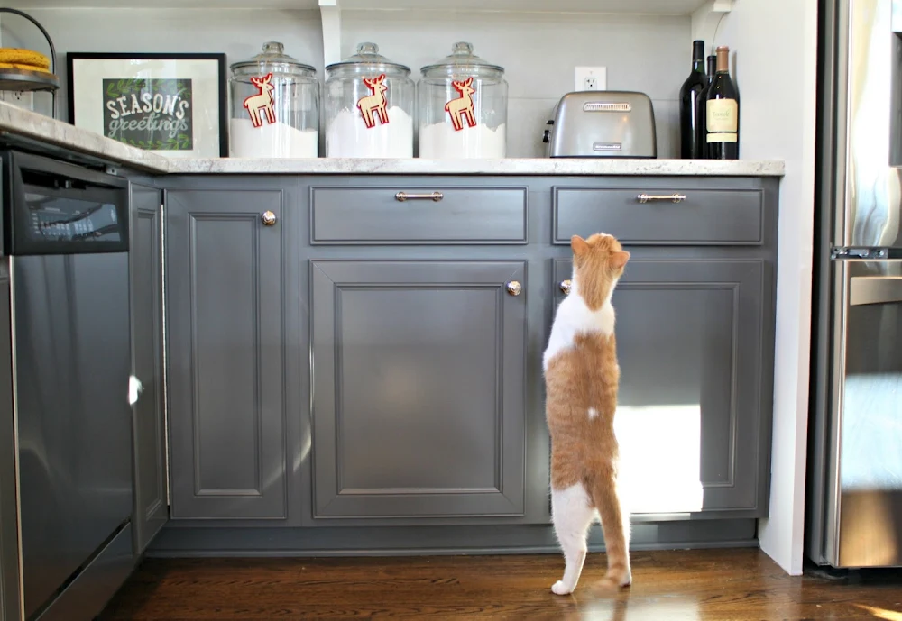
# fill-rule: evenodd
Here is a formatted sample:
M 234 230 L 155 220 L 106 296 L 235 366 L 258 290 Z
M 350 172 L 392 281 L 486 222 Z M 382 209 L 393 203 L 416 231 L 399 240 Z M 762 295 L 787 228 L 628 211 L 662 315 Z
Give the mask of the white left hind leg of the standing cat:
M 585 534 L 594 517 L 594 507 L 582 483 L 551 490 L 551 516 L 566 563 L 564 577 L 551 590 L 557 595 L 567 595 L 576 588 L 583 572 Z

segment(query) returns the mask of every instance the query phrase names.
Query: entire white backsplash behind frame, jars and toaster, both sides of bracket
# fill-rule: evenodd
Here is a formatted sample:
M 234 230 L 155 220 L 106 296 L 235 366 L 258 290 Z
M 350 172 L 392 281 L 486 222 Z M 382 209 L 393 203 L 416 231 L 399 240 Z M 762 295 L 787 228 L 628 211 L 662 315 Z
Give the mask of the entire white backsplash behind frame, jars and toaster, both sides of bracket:
M 323 78 L 322 32 L 316 11 L 226 9 L 29 9 L 51 33 L 60 74 L 67 51 L 225 52 L 246 59 L 264 41 L 281 41 L 291 56 Z M 3 45 L 46 50 L 40 33 L 2 17 Z M 428 11 L 351 11 L 342 15 L 342 55 L 373 41 L 392 60 L 419 68 L 440 59 L 456 41 L 502 65 L 510 84 L 508 156 L 542 157 L 545 123 L 560 96 L 574 87 L 577 65 L 607 68 L 608 88 L 647 93 L 655 108 L 658 157 L 676 157 L 677 96 L 690 68 L 688 17 L 622 14 L 470 14 Z M 66 86 L 60 118 L 67 118 Z

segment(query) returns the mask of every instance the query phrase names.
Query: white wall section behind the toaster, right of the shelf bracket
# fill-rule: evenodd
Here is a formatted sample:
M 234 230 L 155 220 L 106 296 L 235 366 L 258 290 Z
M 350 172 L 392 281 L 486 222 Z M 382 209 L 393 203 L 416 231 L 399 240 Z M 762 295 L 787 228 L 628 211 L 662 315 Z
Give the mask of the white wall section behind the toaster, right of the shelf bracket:
M 658 157 L 679 153 L 677 99 L 692 68 L 690 19 L 658 15 L 346 11 L 342 58 L 373 41 L 388 58 L 419 68 L 444 58 L 456 41 L 501 65 L 510 85 L 508 154 L 543 157 L 541 141 L 557 101 L 574 90 L 579 66 L 607 67 L 608 88 L 652 99 Z

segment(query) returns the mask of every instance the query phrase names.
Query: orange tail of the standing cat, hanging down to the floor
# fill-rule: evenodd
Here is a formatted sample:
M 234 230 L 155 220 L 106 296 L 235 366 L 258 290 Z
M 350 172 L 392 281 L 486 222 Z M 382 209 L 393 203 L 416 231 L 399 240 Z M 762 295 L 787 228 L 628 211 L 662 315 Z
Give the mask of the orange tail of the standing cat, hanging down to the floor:
M 630 516 L 624 510 L 617 489 L 617 477 L 612 468 L 597 473 L 586 487 L 598 509 L 604 532 L 604 546 L 608 557 L 608 571 L 603 578 L 606 586 L 628 587 L 632 583 L 630 571 Z

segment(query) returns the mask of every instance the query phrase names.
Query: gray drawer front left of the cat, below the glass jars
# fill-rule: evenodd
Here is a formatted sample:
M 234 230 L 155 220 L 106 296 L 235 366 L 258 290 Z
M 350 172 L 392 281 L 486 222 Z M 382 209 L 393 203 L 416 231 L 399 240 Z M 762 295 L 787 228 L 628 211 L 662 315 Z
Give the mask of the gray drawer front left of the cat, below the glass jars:
M 315 244 L 527 242 L 526 187 L 312 187 Z

